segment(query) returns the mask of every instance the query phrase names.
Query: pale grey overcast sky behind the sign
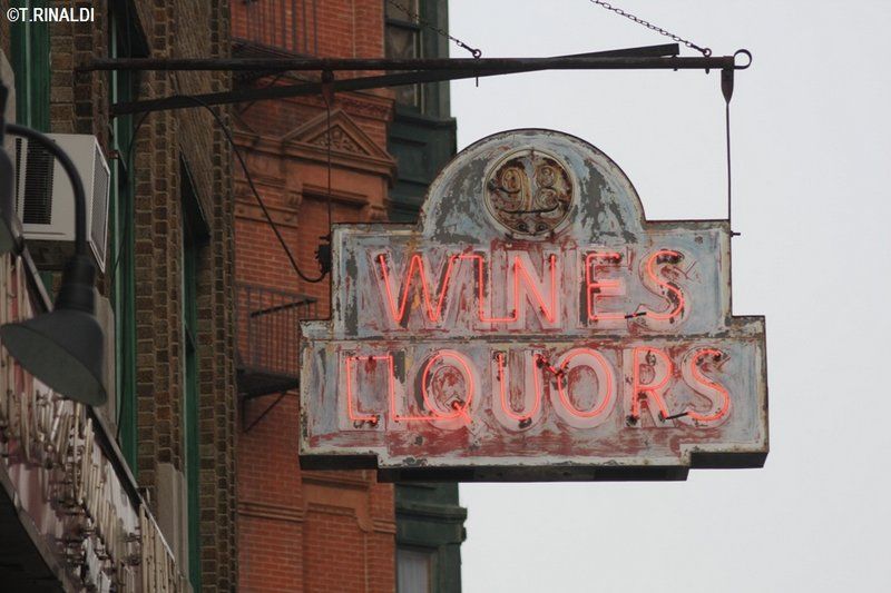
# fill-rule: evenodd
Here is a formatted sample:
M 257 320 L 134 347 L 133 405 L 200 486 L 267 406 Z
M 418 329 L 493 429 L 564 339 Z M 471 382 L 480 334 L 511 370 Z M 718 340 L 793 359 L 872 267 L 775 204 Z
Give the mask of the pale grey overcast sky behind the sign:
M 891 2 L 616 2 L 754 55 L 732 102 L 733 303 L 767 319 L 771 453 L 681 483 L 462 485 L 464 592 L 891 591 Z M 588 0 L 450 0 L 450 20 L 484 57 L 669 41 Z M 459 149 L 566 131 L 650 220 L 725 216 L 718 72 L 453 82 L 452 113 Z

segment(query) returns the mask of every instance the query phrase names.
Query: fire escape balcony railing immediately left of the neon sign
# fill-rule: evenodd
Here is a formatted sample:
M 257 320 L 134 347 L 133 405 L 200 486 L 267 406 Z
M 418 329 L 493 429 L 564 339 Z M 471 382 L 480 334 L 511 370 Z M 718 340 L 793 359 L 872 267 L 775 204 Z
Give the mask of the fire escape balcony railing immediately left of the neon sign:
M 296 378 L 300 320 L 317 318 L 316 298 L 249 284 L 236 286 L 239 370 Z

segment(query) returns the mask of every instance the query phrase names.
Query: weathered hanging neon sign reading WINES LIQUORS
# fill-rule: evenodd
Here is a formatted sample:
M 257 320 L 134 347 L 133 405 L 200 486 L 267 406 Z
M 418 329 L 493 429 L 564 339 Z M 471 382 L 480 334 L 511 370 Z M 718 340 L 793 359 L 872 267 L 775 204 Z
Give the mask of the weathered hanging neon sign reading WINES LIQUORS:
M 446 167 L 421 223 L 333 233 L 302 324 L 301 462 L 384 478 L 683 478 L 767 454 L 763 317 L 726 221 L 645 220 L 618 167 L 542 130 Z

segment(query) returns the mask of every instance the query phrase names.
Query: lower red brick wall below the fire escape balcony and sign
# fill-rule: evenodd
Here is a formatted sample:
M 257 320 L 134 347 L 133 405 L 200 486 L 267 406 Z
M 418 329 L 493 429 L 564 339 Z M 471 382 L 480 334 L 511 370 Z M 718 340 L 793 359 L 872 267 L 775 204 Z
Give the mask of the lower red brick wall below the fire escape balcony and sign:
M 245 421 L 276 397 L 249 404 Z M 303 474 L 297 412 L 287 395 L 238 442 L 239 591 L 393 591 L 392 486 L 373 472 Z

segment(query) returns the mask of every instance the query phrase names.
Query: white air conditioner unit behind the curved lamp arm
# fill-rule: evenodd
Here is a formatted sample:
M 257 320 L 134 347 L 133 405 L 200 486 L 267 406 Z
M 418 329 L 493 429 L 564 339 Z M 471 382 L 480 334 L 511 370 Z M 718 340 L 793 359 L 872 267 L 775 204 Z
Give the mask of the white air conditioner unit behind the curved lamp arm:
M 87 195 L 87 243 L 105 271 L 111 172 L 95 136 L 48 134 L 75 164 Z M 56 158 L 37 142 L 16 138 L 16 211 L 37 265 L 61 269 L 74 254 L 75 195 Z

